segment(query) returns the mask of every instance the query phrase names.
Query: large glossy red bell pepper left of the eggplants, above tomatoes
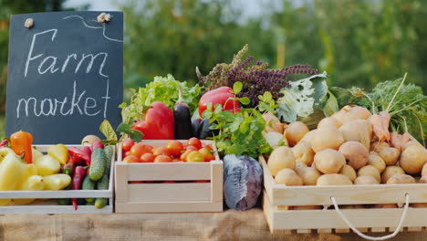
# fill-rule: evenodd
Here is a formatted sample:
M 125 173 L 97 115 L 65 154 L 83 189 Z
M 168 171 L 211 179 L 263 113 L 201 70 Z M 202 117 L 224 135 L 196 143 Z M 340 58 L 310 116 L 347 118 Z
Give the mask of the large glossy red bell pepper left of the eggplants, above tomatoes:
M 132 129 L 141 131 L 144 140 L 173 140 L 173 112 L 161 102 L 153 102 L 145 113 L 145 121 L 137 121 Z

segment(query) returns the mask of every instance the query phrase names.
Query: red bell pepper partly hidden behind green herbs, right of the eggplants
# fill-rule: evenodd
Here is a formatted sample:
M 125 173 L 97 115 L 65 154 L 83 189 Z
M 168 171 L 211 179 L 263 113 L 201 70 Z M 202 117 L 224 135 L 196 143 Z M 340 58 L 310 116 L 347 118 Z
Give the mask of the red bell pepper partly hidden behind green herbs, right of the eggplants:
M 223 110 L 229 110 L 232 113 L 240 111 L 239 101 L 230 99 L 235 98 L 232 91 L 233 89 L 229 87 L 220 87 L 204 93 L 199 100 L 199 115 L 203 117 L 203 111 L 207 109 L 209 103 L 212 103 L 213 110 L 216 104 L 220 104 L 223 106 Z

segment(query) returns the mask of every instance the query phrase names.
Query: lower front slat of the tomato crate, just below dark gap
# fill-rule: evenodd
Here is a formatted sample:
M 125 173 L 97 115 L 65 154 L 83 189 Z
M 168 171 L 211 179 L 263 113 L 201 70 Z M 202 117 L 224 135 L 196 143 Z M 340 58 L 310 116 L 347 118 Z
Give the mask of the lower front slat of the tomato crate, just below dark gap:
M 134 183 L 129 202 L 210 201 L 211 183 Z

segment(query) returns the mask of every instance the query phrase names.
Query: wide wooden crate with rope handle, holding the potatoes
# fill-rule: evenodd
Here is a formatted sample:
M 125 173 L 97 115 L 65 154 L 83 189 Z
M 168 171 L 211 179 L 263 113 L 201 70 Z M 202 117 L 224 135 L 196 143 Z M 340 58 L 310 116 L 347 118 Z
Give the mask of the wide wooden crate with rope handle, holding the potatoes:
M 425 183 L 285 186 L 275 183 L 262 156 L 259 157 L 259 161 L 264 172 L 264 215 L 271 233 L 277 231 L 281 233 L 292 231 L 349 233 L 351 229 L 344 219 L 347 219 L 349 224 L 357 228 L 360 233 L 395 232 L 397 234 L 399 231 L 422 231 L 427 226 L 427 208 L 411 207 L 413 204 L 427 203 L 427 184 Z M 339 211 L 334 208 L 333 200 Z M 350 206 L 351 209 L 346 208 L 352 204 L 354 206 Z M 401 207 L 365 208 L 360 204 L 398 204 Z M 304 205 L 320 205 L 324 208 L 312 210 L 289 208 L 289 206 Z M 427 207 L 427 204 L 425 206 Z M 406 212 L 404 212 L 405 209 Z M 406 215 L 402 216 L 403 213 Z M 401 228 L 397 231 L 399 226 Z

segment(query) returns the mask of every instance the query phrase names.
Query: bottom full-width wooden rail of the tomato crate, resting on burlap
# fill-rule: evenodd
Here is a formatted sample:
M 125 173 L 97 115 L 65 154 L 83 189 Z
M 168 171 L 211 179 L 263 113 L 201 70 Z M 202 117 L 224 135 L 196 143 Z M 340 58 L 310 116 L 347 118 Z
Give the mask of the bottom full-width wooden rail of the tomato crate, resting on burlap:
M 223 212 L 223 202 L 117 203 L 116 213 Z

